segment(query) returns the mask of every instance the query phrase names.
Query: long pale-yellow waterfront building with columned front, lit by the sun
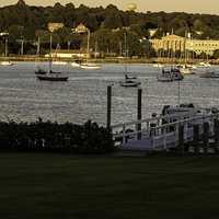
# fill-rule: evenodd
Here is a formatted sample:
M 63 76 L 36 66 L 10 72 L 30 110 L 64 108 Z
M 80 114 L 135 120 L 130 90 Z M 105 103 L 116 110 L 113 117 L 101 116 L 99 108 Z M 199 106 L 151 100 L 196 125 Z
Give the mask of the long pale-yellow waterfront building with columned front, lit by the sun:
M 153 38 L 149 39 L 149 42 L 157 54 L 163 51 L 165 55 L 169 54 L 169 51 L 193 51 L 196 55 L 205 53 L 206 55 L 212 56 L 214 51 L 219 49 L 219 41 L 193 39 L 189 36 L 189 34 L 188 37 L 182 37 L 175 34 L 166 34 L 161 39 Z

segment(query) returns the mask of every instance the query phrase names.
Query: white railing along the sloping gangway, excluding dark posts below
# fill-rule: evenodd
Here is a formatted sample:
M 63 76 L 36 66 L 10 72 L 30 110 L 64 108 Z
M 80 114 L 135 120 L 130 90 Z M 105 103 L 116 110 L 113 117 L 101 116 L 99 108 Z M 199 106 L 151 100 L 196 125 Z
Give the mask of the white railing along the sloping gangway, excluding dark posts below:
M 178 126 L 184 126 L 184 141 L 193 140 L 193 126 L 199 125 L 203 134 L 204 123 L 209 123 L 209 132 L 214 135 L 214 119 L 219 114 L 177 113 L 142 120 L 134 120 L 112 126 L 115 141 L 124 149 L 168 149 L 178 145 Z M 141 129 L 138 130 L 138 125 Z M 153 127 L 152 127 L 152 126 Z

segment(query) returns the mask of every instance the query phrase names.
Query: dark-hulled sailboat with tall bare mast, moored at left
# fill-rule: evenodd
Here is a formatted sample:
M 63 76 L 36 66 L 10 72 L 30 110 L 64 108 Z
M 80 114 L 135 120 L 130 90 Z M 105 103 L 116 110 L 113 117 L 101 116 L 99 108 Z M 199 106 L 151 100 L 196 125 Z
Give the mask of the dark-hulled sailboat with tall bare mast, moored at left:
M 49 71 L 46 73 L 36 73 L 36 77 L 38 80 L 41 81 L 68 81 L 68 77 L 67 76 L 61 76 L 62 72 L 59 72 L 59 71 L 53 71 L 51 69 L 51 65 L 53 65 L 53 61 L 51 61 L 51 42 L 53 42 L 53 38 L 51 38 L 51 35 L 50 35 L 50 53 L 49 53 Z M 44 72 L 45 70 L 43 70 Z

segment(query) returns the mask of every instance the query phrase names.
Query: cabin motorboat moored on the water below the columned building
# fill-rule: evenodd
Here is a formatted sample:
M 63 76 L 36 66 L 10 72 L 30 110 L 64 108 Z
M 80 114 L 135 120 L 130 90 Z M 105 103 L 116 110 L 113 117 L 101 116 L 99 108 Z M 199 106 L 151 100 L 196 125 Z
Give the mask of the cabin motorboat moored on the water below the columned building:
M 160 82 L 181 81 L 183 79 L 184 77 L 178 68 L 162 69 L 162 74 L 158 76 L 158 81 Z

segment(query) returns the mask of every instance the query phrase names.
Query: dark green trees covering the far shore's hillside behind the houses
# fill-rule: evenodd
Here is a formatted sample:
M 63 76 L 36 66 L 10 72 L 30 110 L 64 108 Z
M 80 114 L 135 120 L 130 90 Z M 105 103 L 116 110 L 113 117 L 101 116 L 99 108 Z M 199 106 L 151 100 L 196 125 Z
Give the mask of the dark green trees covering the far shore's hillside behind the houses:
M 33 7 L 20 0 L 14 5 L 0 9 L 0 31 L 9 32 L 10 53 L 18 54 L 20 41 L 24 39 L 24 53 L 36 53 L 36 37 L 42 37 L 42 54 L 46 53 L 49 43 L 49 22 L 60 22 L 65 27 L 54 33 L 54 47 L 61 48 L 85 47 L 85 35 L 73 34 L 71 28 L 83 23 L 91 31 L 91 48 L 97 45 L 103 54 L 123 55 L 125 50 L 124 34 L 127 34 L 128 56 L 150 56 L 146 53 L 149 30 L 158 28 L 153 37 L 161 37 L 165 33 L 174 32 L 184 36 L 191 32 L 194 38 L 219 38 L 219 16 L 209 14 L 188 14 L 183 12 L 165 13 L 150 11 L 138 13 L 122 11 L 115 5 L 106 8 L 89 8 L 73 3 L 54 7 Z M 20 41 L 19 41 L 20 39 Z M 3 42 L 1 45 L 3 53 Z

